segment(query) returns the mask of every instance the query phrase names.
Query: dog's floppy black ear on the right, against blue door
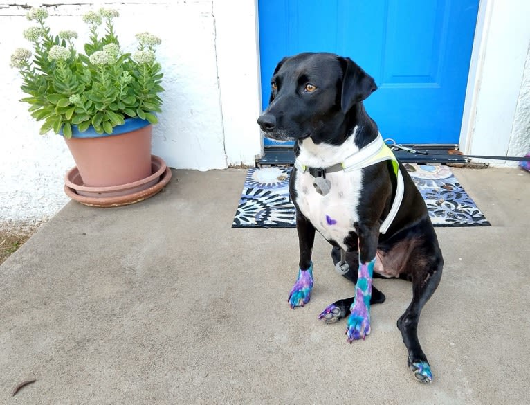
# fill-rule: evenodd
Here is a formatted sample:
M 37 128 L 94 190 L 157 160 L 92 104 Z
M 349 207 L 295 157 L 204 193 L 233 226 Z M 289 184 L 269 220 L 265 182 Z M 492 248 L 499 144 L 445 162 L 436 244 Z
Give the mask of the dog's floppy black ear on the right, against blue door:
M 372 76 L 360 69 L 349 57 L 338 57 L 342 68 L 342 96 L 340 107 L 347 113 L 357 102 L 365 100 L 377 90 L 376 82 Z

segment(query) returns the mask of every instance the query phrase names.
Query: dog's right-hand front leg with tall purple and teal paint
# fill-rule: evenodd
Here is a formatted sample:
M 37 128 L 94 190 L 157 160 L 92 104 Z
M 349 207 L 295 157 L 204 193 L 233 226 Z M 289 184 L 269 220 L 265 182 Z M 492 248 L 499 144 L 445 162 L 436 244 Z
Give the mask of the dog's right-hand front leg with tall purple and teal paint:
M 356 224 L 359 246 L 359 269 L 355 287 L 355 299 L 351 304 L 346 327 L 349 343 L 365 339 L 370 333 L 370 299 L 372 298 L 372 275 L 376 262 L 379 226 Z

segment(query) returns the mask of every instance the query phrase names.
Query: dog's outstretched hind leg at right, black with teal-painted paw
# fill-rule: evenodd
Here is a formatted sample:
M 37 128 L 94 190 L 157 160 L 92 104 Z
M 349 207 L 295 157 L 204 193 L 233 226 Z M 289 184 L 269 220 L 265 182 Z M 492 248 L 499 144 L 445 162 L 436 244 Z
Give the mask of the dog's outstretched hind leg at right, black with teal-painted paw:
M 407 347 L 407 363 L 414 373 L 414 377 L 421 382 L 430 382 L 432 381 L 432 372 L 427 357 L 419 344 L 418 321 L 423 305 L 438 287 L 444 260 L 441 258 L 437 246 L 431 255 L 426 255 L 425 251 L 416 251 L 411 255 L 411 259 L 409 263 L 416 262 L 417 266 L 421 265 L 412 272 L 412 302 L 397 321 L 397 327 L 401 331 L 403 343 Z

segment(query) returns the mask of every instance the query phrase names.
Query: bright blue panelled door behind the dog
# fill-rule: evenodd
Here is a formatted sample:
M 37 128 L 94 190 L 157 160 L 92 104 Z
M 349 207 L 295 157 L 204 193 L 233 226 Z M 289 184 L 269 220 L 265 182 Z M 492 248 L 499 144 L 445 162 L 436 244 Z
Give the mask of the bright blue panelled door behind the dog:
M 263 107 L 282 57 L 332 52 L 351 57 L 376 80 L 365 106 L 383 138 L 457 144 L 478 3 L 259 0 Z

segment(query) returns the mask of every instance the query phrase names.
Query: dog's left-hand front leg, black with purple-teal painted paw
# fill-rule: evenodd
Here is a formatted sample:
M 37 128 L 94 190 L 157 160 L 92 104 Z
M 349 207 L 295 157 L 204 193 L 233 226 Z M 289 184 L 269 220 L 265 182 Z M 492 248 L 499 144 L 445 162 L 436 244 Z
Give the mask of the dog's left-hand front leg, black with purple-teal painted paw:
M 289 294 L 291 308 L 303 307 L 309 303 L 311 289 L 313 289 L 313 262 L 311 251 L 315 242 L 315 227 L 302 213 L 296 214 L 296 230 L 300 245 L 300 261 L 298 262 L 298 278 Z

